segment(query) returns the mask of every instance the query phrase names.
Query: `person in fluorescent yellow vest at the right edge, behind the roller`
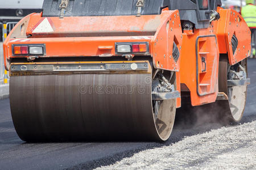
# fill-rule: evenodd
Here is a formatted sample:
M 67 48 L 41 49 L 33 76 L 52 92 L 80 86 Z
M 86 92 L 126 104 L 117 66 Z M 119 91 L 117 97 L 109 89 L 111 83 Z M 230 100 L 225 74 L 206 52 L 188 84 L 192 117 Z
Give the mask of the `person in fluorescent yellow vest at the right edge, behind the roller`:
M 256 6 L 254 0 L 246 0 L 246 6 L 242 7 L 241 14 L 248 27 L 251 29 L 251 58 L 256 53 Z

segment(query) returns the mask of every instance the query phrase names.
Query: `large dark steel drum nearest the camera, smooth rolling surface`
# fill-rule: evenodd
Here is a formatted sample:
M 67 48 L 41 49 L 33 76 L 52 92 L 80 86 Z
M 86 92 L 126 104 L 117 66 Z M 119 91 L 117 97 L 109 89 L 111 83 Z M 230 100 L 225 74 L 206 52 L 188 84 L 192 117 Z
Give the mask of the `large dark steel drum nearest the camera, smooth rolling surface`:
M 151 74 L 11 76 L 10 104 L 23 141 L 161 141 L 168 139 L 173 125 L 167 118 L 171 126 L 164 126 L 160 114 L 160 137 L 152 111 Z

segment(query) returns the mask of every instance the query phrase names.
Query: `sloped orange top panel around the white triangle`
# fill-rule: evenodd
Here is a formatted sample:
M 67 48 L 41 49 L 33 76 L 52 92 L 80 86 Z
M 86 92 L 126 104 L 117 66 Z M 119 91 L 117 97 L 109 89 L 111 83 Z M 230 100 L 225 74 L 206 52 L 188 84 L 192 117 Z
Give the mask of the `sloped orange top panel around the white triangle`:
M 136 16 L 74 16 L 48 17 L 41 14 L 31 16 L 27 35 L 32 37 L 81 37 L 81 36 L 153 36 L 166 15 Z M 53 31 L 36 32 L 45 19 Z

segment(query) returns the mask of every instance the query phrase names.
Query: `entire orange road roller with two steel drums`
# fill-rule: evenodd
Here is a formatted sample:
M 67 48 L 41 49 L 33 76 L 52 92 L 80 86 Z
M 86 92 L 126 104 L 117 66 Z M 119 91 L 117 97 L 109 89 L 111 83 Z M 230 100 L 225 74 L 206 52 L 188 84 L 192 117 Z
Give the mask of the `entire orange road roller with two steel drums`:
M 44 0 L 43 12 L 20 20 L 3 44 L 19 137 L 166 141 L 186 105 L 214 104 L 221 121 L 240 121 L 250 29 L 220 6 Z

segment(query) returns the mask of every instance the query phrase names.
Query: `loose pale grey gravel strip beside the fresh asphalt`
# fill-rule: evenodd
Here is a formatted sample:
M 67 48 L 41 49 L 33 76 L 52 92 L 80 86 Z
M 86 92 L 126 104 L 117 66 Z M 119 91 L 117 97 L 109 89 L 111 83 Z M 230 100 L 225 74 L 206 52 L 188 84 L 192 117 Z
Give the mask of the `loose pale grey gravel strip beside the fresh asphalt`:
M 256 169 L 256 121 L 185 137 L 97 169 Z

